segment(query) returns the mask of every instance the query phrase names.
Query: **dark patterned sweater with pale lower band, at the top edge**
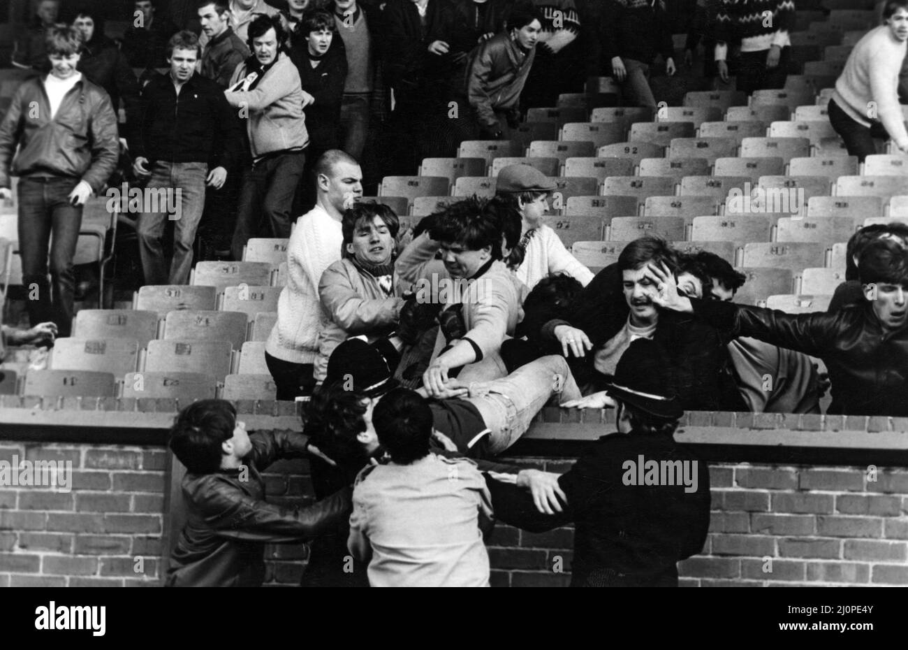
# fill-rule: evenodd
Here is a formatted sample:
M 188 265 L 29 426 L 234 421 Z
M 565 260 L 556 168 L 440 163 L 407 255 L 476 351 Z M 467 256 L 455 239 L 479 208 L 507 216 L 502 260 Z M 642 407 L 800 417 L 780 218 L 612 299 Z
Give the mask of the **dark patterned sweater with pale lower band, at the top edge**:
M 772 45 L 791 45 L 794 0 L 721 0 L 716 13 L 716 61 L 725 61 L 728 44 L 742 52 L 762 52 Z

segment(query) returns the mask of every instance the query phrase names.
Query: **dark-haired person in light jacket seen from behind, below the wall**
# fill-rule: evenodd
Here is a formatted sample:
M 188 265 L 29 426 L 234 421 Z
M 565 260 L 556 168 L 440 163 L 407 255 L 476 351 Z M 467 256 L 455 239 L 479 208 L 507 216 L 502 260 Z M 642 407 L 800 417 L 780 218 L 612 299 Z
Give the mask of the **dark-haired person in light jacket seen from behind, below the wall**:
M 372 415 L 387 465 L 357 476 L 350 553 L 369 562 L 371 586 L 489 586 L 489 488 L 467 458 L 432 454 L 432 412 L 407 388 L 382 397 Z

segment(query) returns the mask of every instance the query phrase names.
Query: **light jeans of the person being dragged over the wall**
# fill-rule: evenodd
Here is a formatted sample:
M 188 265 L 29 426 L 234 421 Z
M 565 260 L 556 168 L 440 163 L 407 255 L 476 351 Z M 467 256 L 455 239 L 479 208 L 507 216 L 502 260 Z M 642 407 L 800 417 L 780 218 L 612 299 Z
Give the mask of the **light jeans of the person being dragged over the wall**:
M 552 395 L 560 402 L 582 395 L 561 355 L 539 357 L 502 379 L 469 385 L 466 401 L 476 406 L 491 430 L 489 454 L 498 455 L 518 441 Z

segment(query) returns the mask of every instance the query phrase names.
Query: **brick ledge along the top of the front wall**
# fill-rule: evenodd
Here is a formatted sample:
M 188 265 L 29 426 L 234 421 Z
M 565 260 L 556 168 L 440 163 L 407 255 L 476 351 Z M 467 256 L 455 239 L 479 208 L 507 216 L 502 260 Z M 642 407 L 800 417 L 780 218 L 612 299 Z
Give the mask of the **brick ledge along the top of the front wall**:
M 0 439 L 166 445 L 173 400 L 44 400 L 0 407 Z M 37 402 L 37 403 L 34 403 Z M 132 406 L 133 408 L 128 408 Z M 292 402 L 238 402 L 249 429 L 301 428 Z M 614 431 L 611 410 L 545 408 L 509 456 L 576 457 Z M 691 412 L 676 439 L 710 462 L 908 466 L 908 418 Z

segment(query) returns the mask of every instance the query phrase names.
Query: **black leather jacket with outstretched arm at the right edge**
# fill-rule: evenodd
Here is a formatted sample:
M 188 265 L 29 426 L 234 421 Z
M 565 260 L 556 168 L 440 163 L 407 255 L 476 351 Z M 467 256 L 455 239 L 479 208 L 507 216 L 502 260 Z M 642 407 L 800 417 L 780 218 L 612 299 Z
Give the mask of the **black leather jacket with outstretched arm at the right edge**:
M 753 336 L 823 359 L 832 381 L 831 414 L 908 415 L 908 326 L 883 329 L 873 305 L 834 314 L 791 315 L 772 309 L 691 298 L 696 315 L 731 336 Z

